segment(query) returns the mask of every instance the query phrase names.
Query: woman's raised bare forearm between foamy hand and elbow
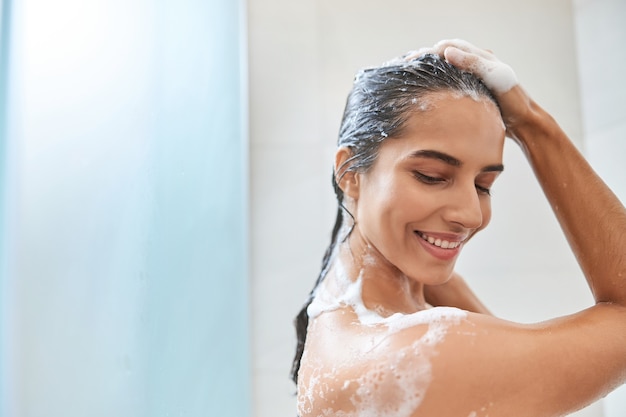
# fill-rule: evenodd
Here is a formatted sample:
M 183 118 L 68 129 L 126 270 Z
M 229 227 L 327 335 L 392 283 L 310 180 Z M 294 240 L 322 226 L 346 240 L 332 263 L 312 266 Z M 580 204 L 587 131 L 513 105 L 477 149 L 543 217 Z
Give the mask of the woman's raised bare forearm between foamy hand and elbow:
M 507 123 L 509 133 L 522 146 L 596 302 L 626 305 L 626 210 L 554 119 L 532 101 L 529 109 L 523 123 Z

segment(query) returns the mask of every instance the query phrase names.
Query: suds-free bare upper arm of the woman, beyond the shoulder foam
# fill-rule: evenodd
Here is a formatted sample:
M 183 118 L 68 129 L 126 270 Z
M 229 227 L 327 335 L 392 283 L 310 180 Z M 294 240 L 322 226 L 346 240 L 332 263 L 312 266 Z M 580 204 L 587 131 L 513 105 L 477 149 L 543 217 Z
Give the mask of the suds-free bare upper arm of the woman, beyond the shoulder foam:
M 626 311 L 597 305 L 532 325 L 468 313 L 431 365 L 423 415 L 442 405 L 450 410 L 438 415 L 564 415 L 623 383 Z M 459 401 L 446 402 L 451 394 Z

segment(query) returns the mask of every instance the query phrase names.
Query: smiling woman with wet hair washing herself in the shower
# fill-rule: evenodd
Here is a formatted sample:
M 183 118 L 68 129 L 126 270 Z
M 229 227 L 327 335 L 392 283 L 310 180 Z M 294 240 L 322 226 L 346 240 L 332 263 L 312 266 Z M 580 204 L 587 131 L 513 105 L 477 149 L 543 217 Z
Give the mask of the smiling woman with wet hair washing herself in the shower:
M 505 133 L 579 259 L 588 310 L 499 320 L 454 272 L 489 224 Z M 491 53 L 448 41 L 362 71 L 333 186 L 331 244 L 296 322 L 301 417 L 561 416 L 624 381 L 624 207 Z

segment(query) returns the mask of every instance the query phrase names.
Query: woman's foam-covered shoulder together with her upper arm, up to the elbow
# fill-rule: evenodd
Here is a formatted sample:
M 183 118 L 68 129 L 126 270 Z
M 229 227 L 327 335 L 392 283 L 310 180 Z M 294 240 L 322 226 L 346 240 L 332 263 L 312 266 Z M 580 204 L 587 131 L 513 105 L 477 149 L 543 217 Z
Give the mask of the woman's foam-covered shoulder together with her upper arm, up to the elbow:
M 536 325 L 450 308 L 364 325 L 344 309 L 309 332 L 303 417 L 556 416 L 626 378 L 626 311 L 612 305 Z

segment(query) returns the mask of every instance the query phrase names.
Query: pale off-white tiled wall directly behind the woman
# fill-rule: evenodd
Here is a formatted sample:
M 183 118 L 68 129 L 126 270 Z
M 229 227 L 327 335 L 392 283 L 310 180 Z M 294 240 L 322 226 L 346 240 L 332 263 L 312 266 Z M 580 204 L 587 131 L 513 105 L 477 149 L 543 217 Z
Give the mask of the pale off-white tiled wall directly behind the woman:
M 444 38 L 492 49 L 583 148 L 570 0 L 249 0 L 254 411 L 295 414 L 292 319 L 319 272 L 336 212 L 331 166 L 361 67 Z M 499 316 L 534 322 L 592 304 L 520 150 L 509 142 L 491 226 L 458 270 Z M 601 404 L 577 414 L 602 416 Z

